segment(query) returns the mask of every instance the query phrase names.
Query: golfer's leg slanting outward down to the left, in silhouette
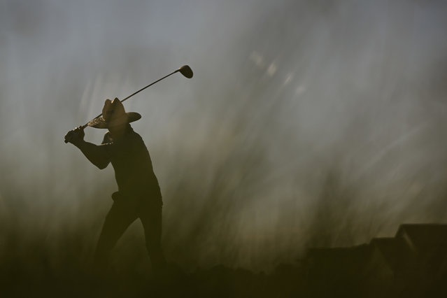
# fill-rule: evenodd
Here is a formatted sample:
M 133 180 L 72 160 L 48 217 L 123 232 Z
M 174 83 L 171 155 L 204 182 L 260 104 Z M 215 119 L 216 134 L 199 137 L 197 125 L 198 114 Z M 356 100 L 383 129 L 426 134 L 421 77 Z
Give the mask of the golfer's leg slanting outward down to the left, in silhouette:
M 136 218 L 136 212 L 126 204 L 113 203 L 111 210 L 106 215 L 94 253 L 94 261 L 97 266 L 105 269 L 113 246 Z

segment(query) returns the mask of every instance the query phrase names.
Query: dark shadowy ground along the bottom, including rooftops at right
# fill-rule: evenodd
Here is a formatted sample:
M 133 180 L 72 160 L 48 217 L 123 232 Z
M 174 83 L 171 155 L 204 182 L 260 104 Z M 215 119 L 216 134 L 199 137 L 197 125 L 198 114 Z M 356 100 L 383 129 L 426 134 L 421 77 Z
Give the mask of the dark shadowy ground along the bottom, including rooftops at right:
M 19 257 L 2 259 L 1 297 L 447 297 L 447 225 L 402 225 L 395 237 L 313 248 L 268 274 L 175 264 L 156 276 L 99 273 L 76 260 L 55 270 L 52 260 Z

